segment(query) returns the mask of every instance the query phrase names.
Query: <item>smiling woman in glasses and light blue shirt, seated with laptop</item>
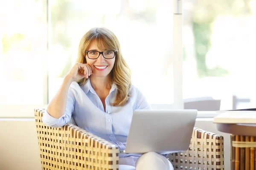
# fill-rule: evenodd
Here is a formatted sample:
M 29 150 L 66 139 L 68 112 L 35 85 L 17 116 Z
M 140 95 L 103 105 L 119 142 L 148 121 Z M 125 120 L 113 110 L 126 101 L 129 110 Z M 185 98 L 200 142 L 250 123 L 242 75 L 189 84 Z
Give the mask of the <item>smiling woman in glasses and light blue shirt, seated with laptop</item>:
M 76 64 L 64 77 L 47 106 L 44 124 L 61 127 L 73 116 L 76 124 L 125 149 L 135 109 L 151 109 L 131 85 L 131 72 L 119 41 L 106 28 L 92 28 L 82 37 Z M 154 152 L 120 157 L 120 170 L 171 170 L 172 164 Z

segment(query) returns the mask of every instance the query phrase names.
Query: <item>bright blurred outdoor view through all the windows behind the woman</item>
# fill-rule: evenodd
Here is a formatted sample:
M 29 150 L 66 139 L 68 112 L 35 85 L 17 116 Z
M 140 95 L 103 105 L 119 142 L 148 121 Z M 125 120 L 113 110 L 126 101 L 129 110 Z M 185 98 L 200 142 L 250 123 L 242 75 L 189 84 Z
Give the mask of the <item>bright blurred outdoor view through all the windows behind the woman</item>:
M 99 6 L 99 4 L 101 4 Z M 76 61 L 83 34 L 118 37 L 134 85 L 173 103 L 171 0 L 0 1 L 0 105 L 47 105 Z M 183 1 L 183 99 L 256 107 L 256 0 Z

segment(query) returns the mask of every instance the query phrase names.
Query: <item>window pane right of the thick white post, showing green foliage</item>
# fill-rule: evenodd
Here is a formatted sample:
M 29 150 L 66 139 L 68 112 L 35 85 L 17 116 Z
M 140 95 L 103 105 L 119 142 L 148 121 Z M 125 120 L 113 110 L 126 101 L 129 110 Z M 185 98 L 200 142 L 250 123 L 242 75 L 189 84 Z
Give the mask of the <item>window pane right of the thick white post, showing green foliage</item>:
M 184 98 L 221 99 L 221 109 L 255 108 L 256 0 L 183 5 Z

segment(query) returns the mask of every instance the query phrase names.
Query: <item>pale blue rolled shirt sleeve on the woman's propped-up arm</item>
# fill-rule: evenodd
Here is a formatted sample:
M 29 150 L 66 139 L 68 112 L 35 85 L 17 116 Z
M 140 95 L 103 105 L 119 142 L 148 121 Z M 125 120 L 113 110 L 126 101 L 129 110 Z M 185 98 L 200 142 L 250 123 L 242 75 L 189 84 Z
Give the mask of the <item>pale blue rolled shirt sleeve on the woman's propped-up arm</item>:
M 70 91 L 69 91 L 70 92 Z M 44 111 L 42 122 L 50 127 L 62 127 L 66 125 L 67 122 L 70 121 L 72 112 L 74 111 L 74 103 L 75 103 L 75 97 L 73 95 L 70 95 L 70 93 L 67 94 L 67 106 L 66 111 L 63 116 L 56 119 L 49 115 L 47 109 Z

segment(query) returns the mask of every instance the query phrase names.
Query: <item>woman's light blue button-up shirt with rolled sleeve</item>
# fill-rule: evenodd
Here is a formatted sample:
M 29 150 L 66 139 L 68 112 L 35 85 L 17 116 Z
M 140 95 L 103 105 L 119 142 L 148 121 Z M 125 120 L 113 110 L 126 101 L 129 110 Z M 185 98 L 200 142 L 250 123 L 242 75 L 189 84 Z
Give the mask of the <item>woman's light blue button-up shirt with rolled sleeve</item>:
M 134 85 L 131 86 L 130 98 L 123 106 L 112 106 L 116 98 L 116 85 L 105 99 L 106 111 L 102 101 L 90 84 L 90 78 L 84 85 L 72 82 L 67 94 L 67 107 L 63 116 L 55 119 L 45 111 L 42 121 L 51 127 L 61 127 L 73 116 L 76 124 L 82 129 L 95 134 L 124 150 L 131 126 L 133 111 L 151 109 L 145 96 Z

